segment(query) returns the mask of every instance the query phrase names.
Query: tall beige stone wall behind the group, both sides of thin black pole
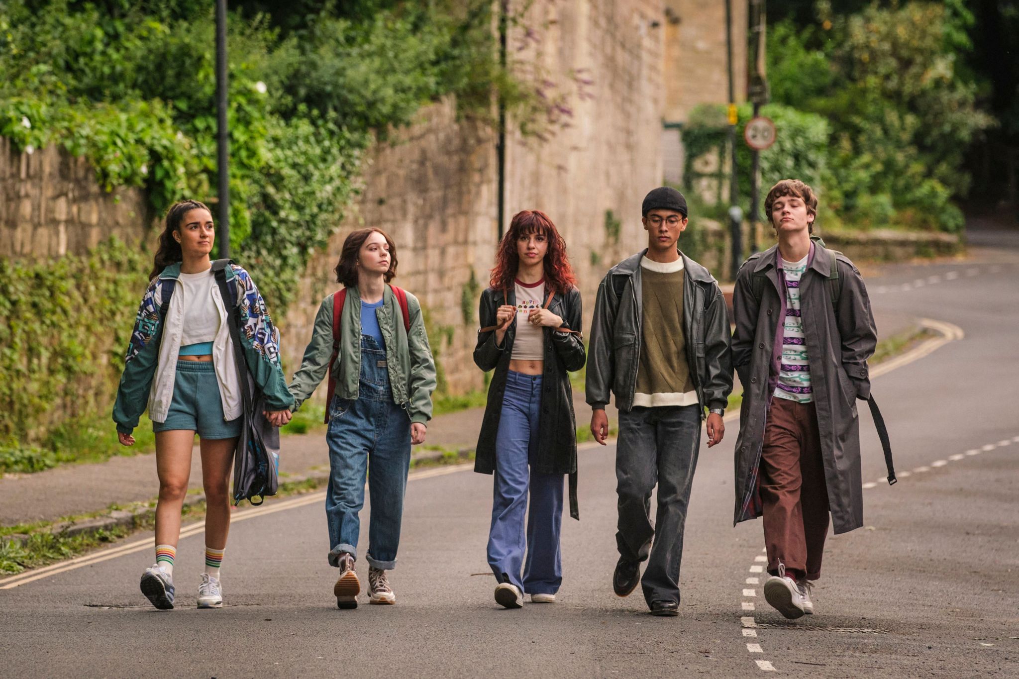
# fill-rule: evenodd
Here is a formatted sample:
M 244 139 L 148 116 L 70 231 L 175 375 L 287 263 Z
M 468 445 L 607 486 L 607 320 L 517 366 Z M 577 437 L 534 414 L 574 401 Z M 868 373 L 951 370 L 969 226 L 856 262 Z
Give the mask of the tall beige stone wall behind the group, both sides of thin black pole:
M 552 125 L 540 139 L 511 124 L 504 222 L 508 227 L 524 209 L 555 222 L 578 274 L 585 328 L 605 271 L 644 246 L 640 204 L 661 182 L 660 20 L 661 5 L 650 0 L 536 2 L 508 37 L 514 58 L 536 64 L 530 74 L 547 76 L 551 96 L 566 94 L 571 113 L 560 121 L 566 126 Z M 591 83 L 579 87 L 577 77 Z M 316 256 L 280 323 L 284 359 L 297 365 L 319 302 L 337 287 L 331 270 L 343 238 L 354 228 L 379 226 L 397 244 L 394 282 L 428 309 L 449 392 L 481 388 L 472 352 L 478 298 L 498 239 L 497 137 L 488 126 L 458 120 L 446 101 L 424 109 L 418 124 L 393 138 L 371 154 L 356 209 Z

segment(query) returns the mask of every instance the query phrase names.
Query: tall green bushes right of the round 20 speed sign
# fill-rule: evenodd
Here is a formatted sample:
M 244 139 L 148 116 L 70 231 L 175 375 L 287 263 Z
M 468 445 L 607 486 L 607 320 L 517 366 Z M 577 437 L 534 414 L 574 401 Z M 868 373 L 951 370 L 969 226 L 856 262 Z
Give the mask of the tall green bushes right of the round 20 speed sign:
M 872 3 L 818 21 L 783 21 L 768 36 L 775 101 L 830 123 L 824 202 L 855 224 L 958 231 L 968 145 L 995 124 L 959 67 L 972 45 L 960 0 Z M 780 139 L 782 135 L 780 133 Z

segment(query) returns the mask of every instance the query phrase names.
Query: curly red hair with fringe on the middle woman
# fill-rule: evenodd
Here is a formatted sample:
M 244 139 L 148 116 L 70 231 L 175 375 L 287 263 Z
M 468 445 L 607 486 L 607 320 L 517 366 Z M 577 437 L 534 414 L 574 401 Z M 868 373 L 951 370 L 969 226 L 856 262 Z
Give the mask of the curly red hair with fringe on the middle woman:
M 552 220 L 539 210 L 523 210 L 514 215 L 509 230 L 502 236 L 495 253 L 495 267 L 492 269 L 489 285 L 502 290 L 513 287 L 520 267 L 517 241 L 521 236 L 532 233 L 540 233 L 548 241 L 548 251 L 544 259 L 545 289 L 548 292 L 564 293 L 576 287 L 577 278 L 567 258 L 567 241 L 559 235 Z

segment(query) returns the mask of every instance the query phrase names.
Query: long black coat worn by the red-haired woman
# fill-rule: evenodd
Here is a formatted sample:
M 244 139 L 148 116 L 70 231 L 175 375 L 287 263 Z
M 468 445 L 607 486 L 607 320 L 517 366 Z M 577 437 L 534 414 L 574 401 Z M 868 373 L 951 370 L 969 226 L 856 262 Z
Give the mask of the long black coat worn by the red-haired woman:
M 487 288 L 481 293 L 478 316 L 481 327 L 495 325 L 495 310 L 501 304 L 516 304 L 517 295 L 513 288 L 503 301 L 502 290 Z M 580 291 L 558 292 L 552 297 L 548 310 L 562 319 L 570 330 L 581 329 L 583 312 Z M 573 409 L 573 388 L 570 386 L 570 372 L 584 366 L 586 351 L 580 335 L 557 332 L 553 328 L 544 331 L 544 373 L 542 374 L 541 414 L 538 417 L 538 455 L 535 471 L 538 473 L 570 474 L 570 515 L 578 518 L 577 509 L 577 419 Z M 517 336 L 517 321 L 514 320 L 502 339 L 502 346 L 495 345 L 495 332 L 479 332 L 478 344 L 474 349 L 474 362 L 483 371 L 495 369 L 488 386 L 488 403 L 481 421 L 478 448 L 474 457 L 474 470 L 480 473 L 495 471 L 495 439 L 499 431 L 502 413 L 502 395 L 505 392 L 506 374 L 513 355 L 514 338 Z M 533 436 L 533 435 L 532 435 Z

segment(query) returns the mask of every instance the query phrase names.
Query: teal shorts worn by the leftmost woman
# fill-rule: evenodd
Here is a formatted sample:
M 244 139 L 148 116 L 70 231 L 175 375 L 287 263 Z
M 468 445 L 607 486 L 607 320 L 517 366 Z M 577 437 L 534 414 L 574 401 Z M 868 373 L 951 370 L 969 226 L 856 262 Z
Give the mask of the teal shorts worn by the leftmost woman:
M 223 401 L 211 360 L 178 360 L 166 421 L 152 422 L 152 431 L 191 430 L 203 439 L 233 439 L 240 436 L 243 420 L 223 418 Z

